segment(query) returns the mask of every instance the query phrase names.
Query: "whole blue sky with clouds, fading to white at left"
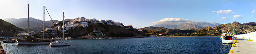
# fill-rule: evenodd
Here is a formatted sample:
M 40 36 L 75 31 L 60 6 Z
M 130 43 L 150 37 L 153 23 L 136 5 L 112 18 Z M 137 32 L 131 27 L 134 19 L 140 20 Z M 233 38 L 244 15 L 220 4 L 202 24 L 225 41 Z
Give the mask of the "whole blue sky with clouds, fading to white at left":
M 165 21 L 232 23 L 256 22 L 255 0 L 0 0 L 0 19 L 43 20 L 43 5 L 53 20 L 85 17 L 113 20 L 133 28 Z M 46 12 L 46 11 L 45 11 Z M 45 20 L 51 20 L 48 13 Z

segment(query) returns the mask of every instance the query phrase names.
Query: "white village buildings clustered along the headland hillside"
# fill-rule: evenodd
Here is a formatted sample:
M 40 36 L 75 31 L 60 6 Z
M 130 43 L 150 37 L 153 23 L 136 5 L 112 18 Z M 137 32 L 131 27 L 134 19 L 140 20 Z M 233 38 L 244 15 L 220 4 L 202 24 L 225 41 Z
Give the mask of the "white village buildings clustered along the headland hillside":
M 63 21 L 64 21 L 64 25 L 63 25 Z M 86 19 L 84 17 L 81 18 L 75 18 L 75 19 L 65 19 L 63 21 L 59 21 L 56 23 L 56 27 L 53 28 L 46 28 L 45 32 L 46 34 L 50 34 L 50 36 L 57 34 L 57 30 L 59 30 L 59 32 L 66 32 L 67 30 L 71 29 L 71 28 L 75 28 L 77 26 L 83 26 L 83 27 L 88 27 L 89 23 L 102 23 L 102 24 L 107 24 L 107 25 L 118 25 L 118 26 L 124 26 L 123 23 L 120 22 L 114 22 L 113 20 L 97 20 L 97 19 Z M 132 25 L 127 25 L 126 29 L 133 29 Z M 56 29 L 57 28 L 57 29 Z M 43 32 L 43 31 L 41 31 Z

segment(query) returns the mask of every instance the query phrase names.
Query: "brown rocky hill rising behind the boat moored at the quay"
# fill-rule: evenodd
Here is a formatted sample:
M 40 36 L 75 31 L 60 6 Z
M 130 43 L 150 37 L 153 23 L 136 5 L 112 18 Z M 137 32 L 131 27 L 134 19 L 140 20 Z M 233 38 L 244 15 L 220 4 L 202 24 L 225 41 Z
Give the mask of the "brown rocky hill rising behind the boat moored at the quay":
M 240 24 L 239 22 L 233 22 L 235 23 L 235 34 L 246 34 L 250 32 L 256 31 L 255 27 L 256 26 L 250 26 L 250 25 L 243 25 Z M 200 31 L 197 31 L 195 33 L 203 33 L 203 34 L 221 34 L 222 31 L 224 30 L 226 32 L 231 32 L 233 33 L 233 23 L 227 23 L 227 24 L 221 24 L 219 26 L 216 26 L 214 28 L 208 27 L 205 29 L 202 29 Z

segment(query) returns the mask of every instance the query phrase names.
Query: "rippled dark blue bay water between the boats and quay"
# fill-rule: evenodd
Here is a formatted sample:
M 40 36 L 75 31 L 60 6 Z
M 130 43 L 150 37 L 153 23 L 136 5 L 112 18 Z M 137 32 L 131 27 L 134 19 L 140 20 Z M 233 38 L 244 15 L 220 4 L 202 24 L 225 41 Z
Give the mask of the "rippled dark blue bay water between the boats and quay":
M 219 37 L 149 37 L 129 39 L 74 39 L 71 46 L 17 45 L 2 43 L 8 54 L 227 54 L 231 44 Z

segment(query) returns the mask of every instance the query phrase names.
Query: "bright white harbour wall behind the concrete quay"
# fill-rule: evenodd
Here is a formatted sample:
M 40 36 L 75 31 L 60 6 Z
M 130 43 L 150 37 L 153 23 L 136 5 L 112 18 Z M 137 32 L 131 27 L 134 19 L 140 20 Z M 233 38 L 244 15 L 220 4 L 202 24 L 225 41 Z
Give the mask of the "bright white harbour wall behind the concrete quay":
M 247 34 L 240 34 L 240 35 L 235 35 L 235 37 L 237 38 L 245 38 L 245 39 L 251 39 L 254 42 L 256 42 L 256 32 L 251 32 L 251 33 L 247 33 Z

